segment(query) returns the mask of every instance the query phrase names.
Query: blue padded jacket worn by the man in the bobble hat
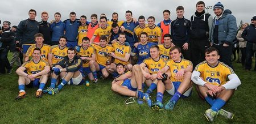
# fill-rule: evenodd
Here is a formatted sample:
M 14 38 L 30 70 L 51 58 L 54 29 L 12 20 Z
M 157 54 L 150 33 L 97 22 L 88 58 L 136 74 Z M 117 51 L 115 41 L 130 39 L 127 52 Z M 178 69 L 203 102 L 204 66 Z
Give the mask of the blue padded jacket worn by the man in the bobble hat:
M 231 15 L 230 10 L 225 10 L 218 21 L 218 44 L 233 44 L 237 34 L 237 20 Z M 210 32 L 210 41 L 213 43 L 213 30 L 216 23 L 216 16 Z

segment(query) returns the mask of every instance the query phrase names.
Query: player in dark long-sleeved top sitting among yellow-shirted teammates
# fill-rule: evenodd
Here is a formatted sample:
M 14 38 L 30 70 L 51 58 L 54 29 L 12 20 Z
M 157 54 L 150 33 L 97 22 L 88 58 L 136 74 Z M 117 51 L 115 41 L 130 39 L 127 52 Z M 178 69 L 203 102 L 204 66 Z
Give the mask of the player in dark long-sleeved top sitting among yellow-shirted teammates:
M 58 93 L 65 84 L 79 85 L 82 81 L 82 74 L 79 71 L 81 66 L 81 59 L 76 56 L 75 49 L 68 48 L 68 55 L 65 56 L 60 62 L 53 65 L 51 87 L 43 92 L 48 92 L 48 94 L 54 95 Z M 57 88 L 54 88 L 59 76 L 62 79 L 62 82 L 57 86 Z

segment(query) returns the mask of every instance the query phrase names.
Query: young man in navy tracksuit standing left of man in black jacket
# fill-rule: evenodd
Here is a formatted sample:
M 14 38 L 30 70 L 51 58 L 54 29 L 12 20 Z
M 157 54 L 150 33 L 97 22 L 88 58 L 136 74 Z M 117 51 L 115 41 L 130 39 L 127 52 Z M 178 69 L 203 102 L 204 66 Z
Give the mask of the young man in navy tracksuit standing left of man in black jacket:
M 184 7 L 178 6 L 176 8 L 177 19 L 171 22 L 171 35 L 172 41 L 175 46 L 181 48 L 181 53 L 185 59 L 191 60 L 191 54 L 189 52 L 189 35 L 191 22 L 185 19 Z

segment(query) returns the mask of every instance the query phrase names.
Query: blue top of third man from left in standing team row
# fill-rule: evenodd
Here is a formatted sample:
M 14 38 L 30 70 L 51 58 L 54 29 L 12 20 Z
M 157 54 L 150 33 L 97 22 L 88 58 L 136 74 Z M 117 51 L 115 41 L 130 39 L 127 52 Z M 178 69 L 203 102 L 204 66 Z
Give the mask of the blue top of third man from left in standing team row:
M 60 36 L 64 36 L 65 24 L 63 22 L 52 23 L 51 24 L 51 32 L 52 39 L 51 41 L 59 41 Z

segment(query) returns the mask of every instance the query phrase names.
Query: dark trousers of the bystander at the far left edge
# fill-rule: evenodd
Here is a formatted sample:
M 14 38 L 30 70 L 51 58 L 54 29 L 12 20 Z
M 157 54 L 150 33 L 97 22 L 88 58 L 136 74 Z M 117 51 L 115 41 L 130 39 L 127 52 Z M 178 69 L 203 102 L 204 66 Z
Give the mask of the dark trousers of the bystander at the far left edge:
M 9 49 L 5 48 L 0 50 L 0 72 L 1 73 L 5 73 L 6 70 L 5 69 L 11 69 L 9 60 L 7 58 Z

